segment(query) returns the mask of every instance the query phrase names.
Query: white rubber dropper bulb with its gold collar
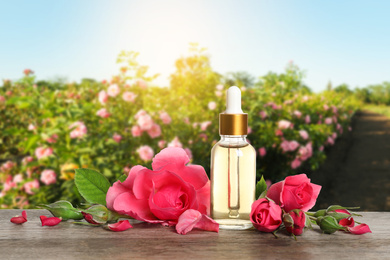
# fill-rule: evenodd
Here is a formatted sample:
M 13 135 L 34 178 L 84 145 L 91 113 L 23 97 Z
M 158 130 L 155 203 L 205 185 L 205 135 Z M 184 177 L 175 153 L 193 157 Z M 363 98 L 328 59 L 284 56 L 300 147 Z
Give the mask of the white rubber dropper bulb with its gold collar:
M 241 109 L 241 91 L 233 86 L 227 90 L 226 111 L 219 114 L 220 135 L 247 135 L 248 114 Z

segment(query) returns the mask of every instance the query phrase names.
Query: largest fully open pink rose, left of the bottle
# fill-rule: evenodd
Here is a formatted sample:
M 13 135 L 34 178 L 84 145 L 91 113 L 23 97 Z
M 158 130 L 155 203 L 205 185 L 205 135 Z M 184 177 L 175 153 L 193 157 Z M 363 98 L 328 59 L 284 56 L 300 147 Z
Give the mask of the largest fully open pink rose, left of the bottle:
M 134 166 L 124 182 L 117 181 L 107 192 L 107 207 L 135 219 L 174 225 L 188 209 L 210 211 L 210 181 L 205 170 L 189 162 L 181 148 L 158 153 L 153 170 Z

